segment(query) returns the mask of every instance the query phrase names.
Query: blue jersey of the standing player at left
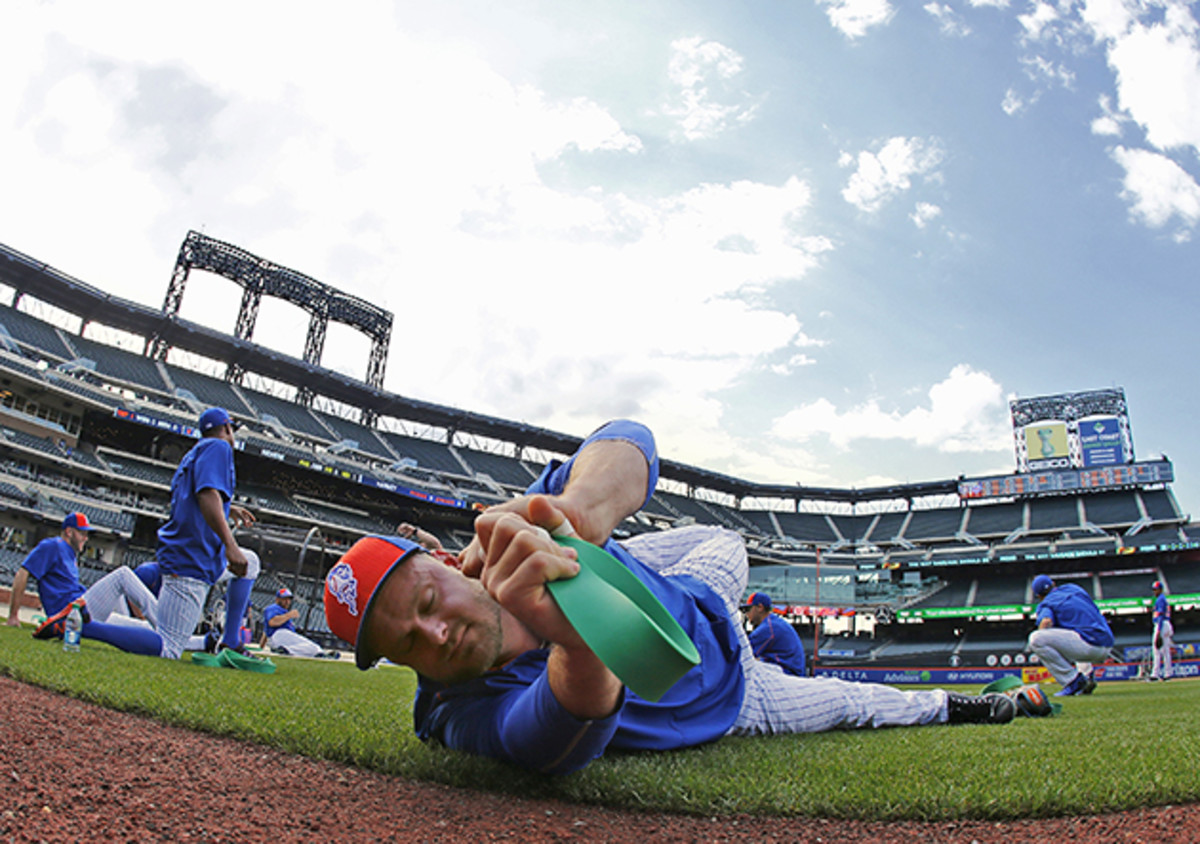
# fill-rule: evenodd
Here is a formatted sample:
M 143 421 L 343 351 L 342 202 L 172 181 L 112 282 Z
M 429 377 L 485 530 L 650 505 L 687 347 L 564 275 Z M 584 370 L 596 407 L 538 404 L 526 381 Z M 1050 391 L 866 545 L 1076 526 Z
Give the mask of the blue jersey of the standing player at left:
M 170 479 L 170 519 L 158 528 L 158 563 L 163 574 L 216 582 L 226 568 L 224 545 L 200 513 L 203 490 L 221 493 L 224 516 L 236 486 L 233 448 L 223 439 L 200 439 L 184 455 Z

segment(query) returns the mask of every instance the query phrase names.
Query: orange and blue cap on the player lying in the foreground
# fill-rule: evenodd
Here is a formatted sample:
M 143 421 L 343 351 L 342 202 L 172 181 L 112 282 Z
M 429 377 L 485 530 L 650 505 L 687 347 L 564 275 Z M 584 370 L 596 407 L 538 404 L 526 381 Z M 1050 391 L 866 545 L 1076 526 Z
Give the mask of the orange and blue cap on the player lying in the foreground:
M 338 639 L 354 647 L 354 663 L 366 671 L 379 656 L 359 634 L 388 575 L 412 555 L 425 552 L 400 537 L 364 537 L 325 575 L 325 621 Z

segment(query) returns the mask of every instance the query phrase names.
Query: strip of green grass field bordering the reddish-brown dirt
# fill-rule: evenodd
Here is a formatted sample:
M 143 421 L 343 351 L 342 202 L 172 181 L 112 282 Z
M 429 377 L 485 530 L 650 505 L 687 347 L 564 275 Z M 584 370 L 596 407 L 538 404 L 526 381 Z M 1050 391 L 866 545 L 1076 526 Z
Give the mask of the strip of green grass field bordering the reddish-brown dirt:
M 257 675 L 91 641 L 68 654 L 29 633 L 0 628 L 4 675 L 193 730 L 476 790 L 698 815 L 864 820 L 1001 820 L 1200 801 L 1195 680 L 1102 683 L 1088 698 L 1066 699 L 1060 716 L 1001 726 L 725 738 L 607 756 L 551 779 L 416 741 L 407 669 L 278 658 L 276 674 Z

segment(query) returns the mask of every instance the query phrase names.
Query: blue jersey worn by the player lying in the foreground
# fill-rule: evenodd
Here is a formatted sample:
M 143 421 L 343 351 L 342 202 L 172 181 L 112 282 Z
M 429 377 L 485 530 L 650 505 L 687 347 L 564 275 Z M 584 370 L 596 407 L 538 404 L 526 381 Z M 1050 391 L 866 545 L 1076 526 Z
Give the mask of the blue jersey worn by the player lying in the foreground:
M 648 499 L 658 479 L 649 430 L 629 421 L 610 423 L 580 448 L 600 439 L 624 439 L 641 449 L 650 466 Z M 574 463 L 574 457 L 552 462 L 528 491 L 559 495 Z M 446 686 L 421 677 L 413 707 L 416 735 L 546 773 L 577 771 L 610 748 L 666 750 L 724 736 L 745 694 L 737 631 L 725 601 L 695 577 L 658 574 L 612 540 L 605 550 L 646 583 L 679 622 L 700 652 L 700 665 L 658 702 L 624 689 L 616 713 L 580 720 L 563 708 L 550 688 L 550 651 L 527 651 L 466 683 Z

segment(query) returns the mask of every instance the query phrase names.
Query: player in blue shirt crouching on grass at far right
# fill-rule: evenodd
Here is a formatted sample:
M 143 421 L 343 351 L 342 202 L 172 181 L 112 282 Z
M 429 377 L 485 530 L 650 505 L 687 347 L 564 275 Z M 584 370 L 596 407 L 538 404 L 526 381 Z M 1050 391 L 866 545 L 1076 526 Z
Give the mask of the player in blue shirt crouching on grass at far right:
M 1064 695 L 1090 695 L 1096 680 L 1075 663 L 1103 663 L 1112 647 L 1112 629 L 1092 597 L 1074 583 L 1056 586 L 1049 575 L 1033 579 L 1038 629 L 1030 634 L 1030 650 L 1058 681 Z

